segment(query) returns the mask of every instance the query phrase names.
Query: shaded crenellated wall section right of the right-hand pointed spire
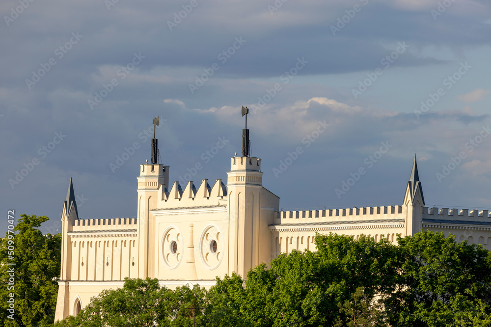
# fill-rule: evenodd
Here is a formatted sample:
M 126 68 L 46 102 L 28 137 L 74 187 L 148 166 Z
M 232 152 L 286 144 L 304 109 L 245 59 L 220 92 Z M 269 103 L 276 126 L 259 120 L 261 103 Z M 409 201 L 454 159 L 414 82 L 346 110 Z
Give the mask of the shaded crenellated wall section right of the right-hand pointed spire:
M 491 250 L 491 213 L 488 210 L 468 210 L 423 207 L 423 228 L 456 235 L 456 241 L 482 244 Z

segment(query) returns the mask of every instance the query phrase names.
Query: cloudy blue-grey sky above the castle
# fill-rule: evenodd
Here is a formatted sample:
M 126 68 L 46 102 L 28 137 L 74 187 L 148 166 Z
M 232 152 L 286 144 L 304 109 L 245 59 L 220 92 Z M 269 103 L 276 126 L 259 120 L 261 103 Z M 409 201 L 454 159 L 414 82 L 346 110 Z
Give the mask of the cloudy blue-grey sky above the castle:
M 0 14 L 5 217 L 55 231 L 70 177 L 81 217 L 136 216 L 155 116 L 172 181 L 196 163 L 196 186 L 226 178 L 242 105 L 282 208 L 401 204 L 415 153 L 427 205 L 491 207 L 487 1 L 4 0 Z

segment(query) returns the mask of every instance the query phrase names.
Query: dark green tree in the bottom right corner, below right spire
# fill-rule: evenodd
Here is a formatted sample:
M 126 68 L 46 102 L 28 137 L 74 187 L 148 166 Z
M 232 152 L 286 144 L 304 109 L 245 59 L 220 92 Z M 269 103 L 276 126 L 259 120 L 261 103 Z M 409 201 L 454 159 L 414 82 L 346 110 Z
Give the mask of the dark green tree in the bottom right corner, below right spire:
M 491 252 L 455 236 L 399 238 L 399 288 L 386 302 L 393 326 L 491 326 Z

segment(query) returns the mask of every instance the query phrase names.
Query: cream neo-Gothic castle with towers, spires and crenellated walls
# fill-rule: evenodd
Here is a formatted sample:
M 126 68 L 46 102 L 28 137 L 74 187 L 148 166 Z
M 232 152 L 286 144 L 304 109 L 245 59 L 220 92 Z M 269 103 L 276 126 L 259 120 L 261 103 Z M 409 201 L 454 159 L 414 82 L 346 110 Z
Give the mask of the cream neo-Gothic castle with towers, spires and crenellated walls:
M 281 252 L 315 251 L 316 232 L 397 243 L 397 234 L 429 229 L 491 250 L 487 210 L 425 206 L 416 158 L 401 205 L 280 211 L 279 198 L 262 184 L 261 159 L 248 156 L 247 148 L 248 130 L 243 156 L 230 160 L 226 184 L 203 179 L 196 188 L 192 181 L 170 184 L 169 166 L 157 163 L 152 146 L 152 163 L 140 165 L 136 177 L 136 219 L 79 218 L 70 179 L 55 320 L 77 315 L 102 290 L 122 287 L 125 277 L 158 278 L 168 288 L 209 288 L 217 276 L 233 272 L 245 277 Z

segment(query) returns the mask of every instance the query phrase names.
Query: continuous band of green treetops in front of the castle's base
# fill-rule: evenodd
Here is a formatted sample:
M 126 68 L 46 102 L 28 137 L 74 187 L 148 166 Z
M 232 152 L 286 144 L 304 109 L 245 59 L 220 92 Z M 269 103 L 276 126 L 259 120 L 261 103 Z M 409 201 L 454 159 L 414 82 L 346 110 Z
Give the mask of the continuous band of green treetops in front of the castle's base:
M 431 231 L 398 243 L 317 234 L 315 252 L 282 253 L 209 290 L 125 279 L 55 326 L 491 326 L 491 252 Z

